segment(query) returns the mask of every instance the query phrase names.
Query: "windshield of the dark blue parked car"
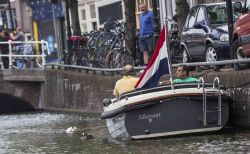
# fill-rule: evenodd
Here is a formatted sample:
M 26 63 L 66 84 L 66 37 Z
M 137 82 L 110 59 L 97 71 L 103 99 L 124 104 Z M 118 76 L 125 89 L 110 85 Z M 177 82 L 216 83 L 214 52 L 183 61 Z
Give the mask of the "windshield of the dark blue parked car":
M 211 25 L 227 24 L 227 6 L 222 5 L 211 5 L 207 7 L 208 20 Z M 233 11 L 233 20 L 235 21 L 240 13 Z

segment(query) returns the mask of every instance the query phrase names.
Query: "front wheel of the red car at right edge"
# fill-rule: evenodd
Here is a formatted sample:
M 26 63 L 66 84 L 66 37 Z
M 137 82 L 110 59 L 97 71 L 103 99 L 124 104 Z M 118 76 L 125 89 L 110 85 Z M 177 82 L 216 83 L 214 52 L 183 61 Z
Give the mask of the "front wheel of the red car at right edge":
M 240 44 L 240 40 L 237 39 L 232 44 L 231 58 L 233 59 L 244 59 L 246 58 L 243 54 L 243 48 Z M 236 67 L 246 67 L 248 63 L 237 63 Z

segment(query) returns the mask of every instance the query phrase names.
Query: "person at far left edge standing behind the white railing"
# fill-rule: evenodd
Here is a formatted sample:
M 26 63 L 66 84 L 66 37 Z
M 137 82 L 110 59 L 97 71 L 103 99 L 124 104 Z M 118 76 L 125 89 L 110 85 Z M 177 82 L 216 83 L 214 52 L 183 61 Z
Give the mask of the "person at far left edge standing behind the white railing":
M 6 44 L 1 44 L 0 50 L 1 54 L 9 54 L 9 44 L 8 41 L 10 40 L 10 35 L 7 30 L 3 30 L 0 36 L 0 42 L 4 42 Z M 9 57 L 2 57 L 3 67 L 9 68 Z

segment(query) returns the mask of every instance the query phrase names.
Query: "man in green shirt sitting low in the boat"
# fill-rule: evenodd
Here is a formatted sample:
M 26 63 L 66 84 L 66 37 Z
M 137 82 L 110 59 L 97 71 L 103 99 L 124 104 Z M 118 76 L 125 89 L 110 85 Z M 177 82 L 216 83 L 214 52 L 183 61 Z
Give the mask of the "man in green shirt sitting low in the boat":
M 198 82 L 198 79 L 194 77 L 189 77 L 189 70 L 186 65 L 178 66 L 176 70 L 177 78 L 174 79 L 174 83 L 182 83 L 182 82 Z

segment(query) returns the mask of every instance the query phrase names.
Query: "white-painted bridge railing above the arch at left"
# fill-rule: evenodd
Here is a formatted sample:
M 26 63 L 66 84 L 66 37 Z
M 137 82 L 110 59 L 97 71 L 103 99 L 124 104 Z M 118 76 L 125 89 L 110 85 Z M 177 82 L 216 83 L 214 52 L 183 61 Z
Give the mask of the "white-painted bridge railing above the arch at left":
M 0 58 L 1 58 L 1 68 L 3 69 L 3 62 L 2 62 L 2 57 L 8 57 L 9 58 L 9 69 L 13 68 L 13 61 L 18 58 L 34 58 L 36 60 L 36 62 L 38 63 L 38 61 L 41 59 L 41 67 L 44 68 L 45 66 L 45 62 L 46 62 L 46 52 L 49 52 L 49 47 L 48 47 L 48 42 L 41 40 L 41 41 L 11 41 L 9 40 L 8 42 L 0 42 L 0 45 L 4 45 L 4 44 L 8 44 L 8 49 L 9 49 L 9 53 L 8 54 L 0 54 Z M 39 46 L 41 47 L 41 52 L 36 51 L 36 49 L 34 48 L 34 45 L 39 44 Z M 17 46 L 23 46 L 22 52 L 18 52 L 16 49 L 14 49 Z M 25 48 L 25 46 L 27 45 L 31 45 L 30 47 L 32 49 L 28 49 L 28 50 L 32 50 L 31 53 L 32 54 L 27 54 L 25 53 L 25 50 L 27 48 Z M 1 51 L 4 52 L 4 51 Z M 5 53 L 7 53 L 5 51 Z M 40 65 L 40 64 L 39 64 Z

